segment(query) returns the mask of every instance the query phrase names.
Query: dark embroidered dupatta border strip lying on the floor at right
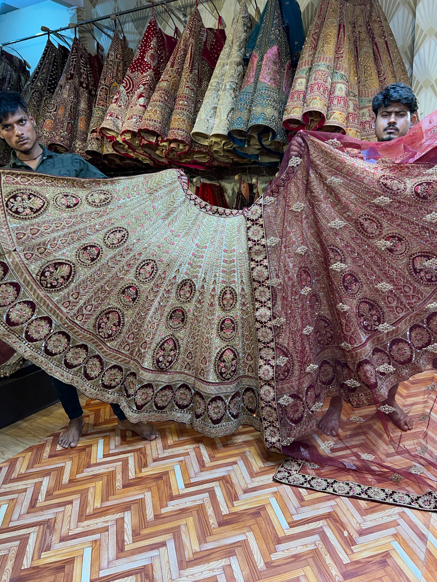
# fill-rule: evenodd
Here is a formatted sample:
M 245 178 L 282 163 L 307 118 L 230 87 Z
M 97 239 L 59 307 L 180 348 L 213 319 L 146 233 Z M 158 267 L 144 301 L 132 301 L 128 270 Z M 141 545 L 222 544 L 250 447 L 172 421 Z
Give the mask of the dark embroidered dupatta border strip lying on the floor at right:
M 291 485 L 291 487 L 312 489 L 312 491 L 338 495 L 340 497 L 352 497 L 397 507 L 419 509 L 421 511 L 437 511 L 437 492 L 431 489 L 423 495 L 412 495 L 410 493 L 393 491 L 393 489 L 360 485 L 360 483 L 355 481 L 337 481 L 337 479 L 315 477 L 313 475 L 299 473 L 303 464 L 304 461 L 301 459 L 287 457 L 273 475 L 273 479 L 285 485 Z

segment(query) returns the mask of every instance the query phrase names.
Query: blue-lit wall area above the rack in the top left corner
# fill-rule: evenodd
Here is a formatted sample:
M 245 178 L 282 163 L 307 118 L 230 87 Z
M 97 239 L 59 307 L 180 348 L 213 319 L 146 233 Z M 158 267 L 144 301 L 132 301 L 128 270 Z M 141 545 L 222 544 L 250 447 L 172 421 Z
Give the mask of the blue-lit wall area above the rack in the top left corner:
M 40 33 L 41 26 L 47 26 L 52 30 L 67 26 L 71 17 L 69 10 L 71 9 L 52 0 L 45 0 L 45 2 L 3 14 L 0 17 L 0 44 Z M 64 36 L 74 36 L 73 30 L 65 31 Z M 51 40 L 55 44 L 58 42 L 56 37 L 51 37 Z M 44 35 L 12 46 L 29 62 L 30 71 L 32 71 L 40 60 L 46 42 L 47 36 Z M 6 46 L 5 51 L 16 55 L 10 46 Z

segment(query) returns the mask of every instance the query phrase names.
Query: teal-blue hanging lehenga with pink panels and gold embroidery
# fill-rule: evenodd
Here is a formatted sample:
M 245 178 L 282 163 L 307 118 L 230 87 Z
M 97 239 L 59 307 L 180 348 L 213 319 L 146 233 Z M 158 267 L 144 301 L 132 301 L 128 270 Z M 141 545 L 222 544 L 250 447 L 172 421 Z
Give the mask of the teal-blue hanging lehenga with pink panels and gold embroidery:
M 242 157 L 267 164 L 281 159 L 288 142 L 282 117 L 293 74 L 279 0 L 268 0 L 228 129 Z

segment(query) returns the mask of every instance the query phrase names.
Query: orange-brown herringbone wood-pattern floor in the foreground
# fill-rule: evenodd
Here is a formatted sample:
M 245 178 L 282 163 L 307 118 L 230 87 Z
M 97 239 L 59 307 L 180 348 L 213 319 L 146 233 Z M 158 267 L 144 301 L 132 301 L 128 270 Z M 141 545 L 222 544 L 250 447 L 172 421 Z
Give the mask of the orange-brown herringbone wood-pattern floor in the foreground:
M 145 442 L 86 407 L 76 449 L 56 432 L 0 463 L 0 582 L 437 579 L 436 514 L 280 485 L 249 427 Z

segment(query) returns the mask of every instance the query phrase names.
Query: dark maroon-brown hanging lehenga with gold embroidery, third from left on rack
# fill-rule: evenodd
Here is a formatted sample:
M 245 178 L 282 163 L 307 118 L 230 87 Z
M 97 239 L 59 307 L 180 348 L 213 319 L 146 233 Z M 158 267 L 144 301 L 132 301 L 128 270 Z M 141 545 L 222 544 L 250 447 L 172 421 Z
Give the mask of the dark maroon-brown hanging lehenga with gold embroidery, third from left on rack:
M 89 54 L 75 37 L 47 116 L 41 120 L 41 141 L 53 151 L 84 155 L 95 93 Z

